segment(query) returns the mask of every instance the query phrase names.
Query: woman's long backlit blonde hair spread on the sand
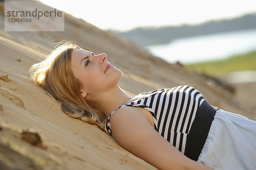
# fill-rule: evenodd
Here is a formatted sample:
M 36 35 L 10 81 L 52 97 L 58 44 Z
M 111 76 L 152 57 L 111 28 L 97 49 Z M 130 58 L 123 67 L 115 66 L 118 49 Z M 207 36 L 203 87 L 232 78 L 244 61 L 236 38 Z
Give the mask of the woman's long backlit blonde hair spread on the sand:
M 71 41 L 58 42 L 44 61 L 31 66 L 29 74 L 36 85 L 61 103 L 64 113 L 94 125 L 110 135 L 106 127 L 106 116 L 103 116 L 99 108 L 93 108 L 84 100 L 80 91 L 81 81 L 71 70 L 71 53 L 78 48 L 80 47 Z

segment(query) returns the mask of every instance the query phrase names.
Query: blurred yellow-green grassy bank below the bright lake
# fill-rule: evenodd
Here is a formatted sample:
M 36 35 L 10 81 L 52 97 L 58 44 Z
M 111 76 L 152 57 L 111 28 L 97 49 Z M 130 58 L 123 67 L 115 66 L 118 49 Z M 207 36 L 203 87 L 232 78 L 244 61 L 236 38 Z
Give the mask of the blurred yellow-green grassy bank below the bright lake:
M 189 71 L 221 77 L 231 71 L 256 70 L 256 51 L 227 59 L 185 65 Z

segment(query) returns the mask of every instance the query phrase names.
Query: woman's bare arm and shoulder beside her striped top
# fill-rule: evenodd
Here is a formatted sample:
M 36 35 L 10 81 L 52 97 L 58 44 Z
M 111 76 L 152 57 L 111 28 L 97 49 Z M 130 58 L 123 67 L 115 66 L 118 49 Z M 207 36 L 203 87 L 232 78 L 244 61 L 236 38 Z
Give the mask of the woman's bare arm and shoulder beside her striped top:
M 212 170 L 189 159 L 150 125 L 135 107 L 123 107 L 111 115 L 111 130 L 125 149 L 160 170 Z

